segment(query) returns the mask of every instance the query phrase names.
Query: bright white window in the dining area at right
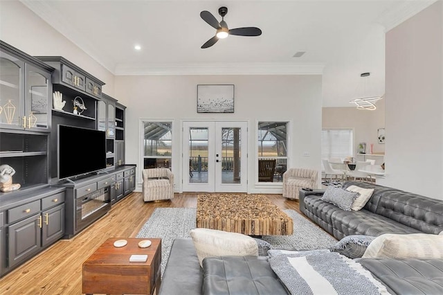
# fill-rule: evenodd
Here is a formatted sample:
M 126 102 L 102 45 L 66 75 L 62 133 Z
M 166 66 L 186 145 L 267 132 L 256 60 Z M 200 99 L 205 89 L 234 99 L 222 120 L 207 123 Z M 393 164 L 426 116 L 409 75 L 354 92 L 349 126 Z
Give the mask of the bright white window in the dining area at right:
M 323 129 L 321 131 L 322 159 L 345 159 L 353 157 L 352 146 L 354 130 L 352 129 Z

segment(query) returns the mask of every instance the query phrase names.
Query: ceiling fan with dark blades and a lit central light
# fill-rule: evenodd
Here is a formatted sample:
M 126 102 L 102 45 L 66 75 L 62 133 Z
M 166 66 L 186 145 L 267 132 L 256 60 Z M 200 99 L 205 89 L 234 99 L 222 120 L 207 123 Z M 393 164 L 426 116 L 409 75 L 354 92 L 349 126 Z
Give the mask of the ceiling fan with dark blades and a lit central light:
M 219 39 L 224 39 L 228 35 L 237 36 L 260 36 L 262 35 L 262 30 L 260 28 L 255 28 L 253 26 L 248 26 L 246 28 L 228 28 L 228 24 L 224 21 L 224 16 L 228 13 L 228 8 L 219 8 L 219 15 L 221 15 L 221 21 L 218 22 L 212 13 L 207 10 L 200 12 L 200 17 L 206 21 L 210 26 L 217 29 L 215 36 L 210 38 L 205 44 L 201 45 L 201 48 L 208 48 L 213 46 Z

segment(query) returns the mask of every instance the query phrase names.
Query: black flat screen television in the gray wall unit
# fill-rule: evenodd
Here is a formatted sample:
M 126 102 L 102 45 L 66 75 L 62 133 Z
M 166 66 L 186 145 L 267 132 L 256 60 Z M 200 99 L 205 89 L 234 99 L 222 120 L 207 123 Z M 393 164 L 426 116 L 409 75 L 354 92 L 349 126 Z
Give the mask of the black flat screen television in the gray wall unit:
M 59 180 L 105 169 L 106 134 L 96 129 L 58 125 L 57 157 Z

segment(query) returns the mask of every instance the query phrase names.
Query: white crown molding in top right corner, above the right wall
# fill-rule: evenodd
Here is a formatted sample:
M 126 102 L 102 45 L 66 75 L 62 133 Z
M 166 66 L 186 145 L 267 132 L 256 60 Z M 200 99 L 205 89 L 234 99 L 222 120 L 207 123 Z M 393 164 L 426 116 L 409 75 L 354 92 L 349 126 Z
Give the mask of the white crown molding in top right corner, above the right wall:
M 381 13 L 375 22 L 384 26 L 385 32 L 388 32 L 436 1 L 438 0 L 401 1 Z

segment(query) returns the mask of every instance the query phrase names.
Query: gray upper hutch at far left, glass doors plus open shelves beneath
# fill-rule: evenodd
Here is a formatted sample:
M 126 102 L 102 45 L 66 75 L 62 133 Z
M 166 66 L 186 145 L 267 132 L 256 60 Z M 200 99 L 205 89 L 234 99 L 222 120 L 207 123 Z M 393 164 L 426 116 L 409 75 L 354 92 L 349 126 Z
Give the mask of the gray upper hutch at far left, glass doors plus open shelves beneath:
M 0 166 L 26 189 L 48 186 L 48 98 L 54 69 L 0 41 Z

